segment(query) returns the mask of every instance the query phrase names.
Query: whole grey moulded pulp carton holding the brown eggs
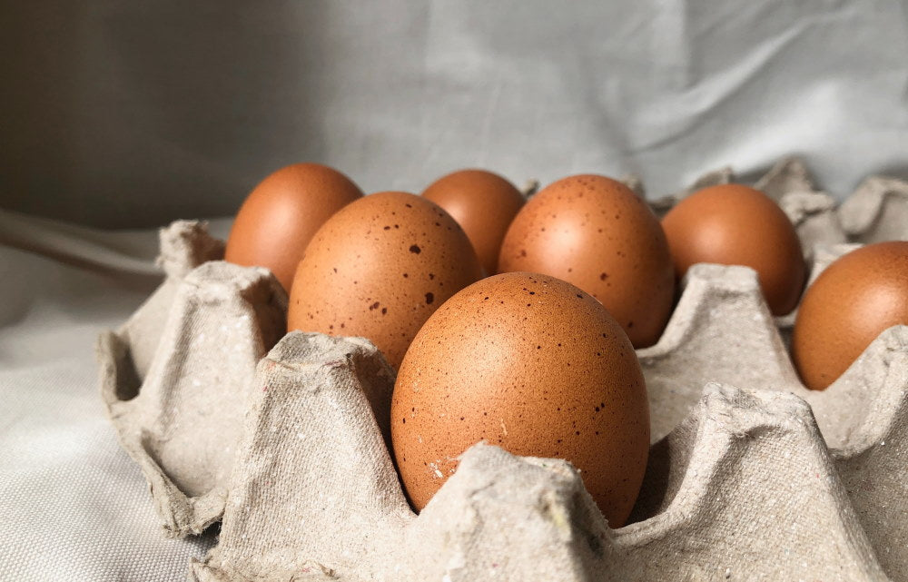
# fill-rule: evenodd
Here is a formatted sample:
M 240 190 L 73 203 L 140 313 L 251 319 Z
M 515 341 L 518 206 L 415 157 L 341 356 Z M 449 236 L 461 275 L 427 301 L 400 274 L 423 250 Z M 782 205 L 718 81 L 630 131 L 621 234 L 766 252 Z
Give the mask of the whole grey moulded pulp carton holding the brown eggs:
M 904 182 L 870 178 L 836 206 L 788 159 L 756 186 L 795 224 L 812 280 L 860 243 L 908 238 Z M 191 580 L 908 581 L 908 327 L 805 390 L 794 317 L 771 316 L 755 272 L 696 265 L 662 338 L 637 350 L 653 445 L 627 526 L 608 528 L 568 462 L 483 443 L 417 516 L 380 352 L 283 335 L 280 285 L 221 256 L 203 224 L 163 229 L 166 281 L 98 342 L 104 402 L 165 533 L 222 519 Z

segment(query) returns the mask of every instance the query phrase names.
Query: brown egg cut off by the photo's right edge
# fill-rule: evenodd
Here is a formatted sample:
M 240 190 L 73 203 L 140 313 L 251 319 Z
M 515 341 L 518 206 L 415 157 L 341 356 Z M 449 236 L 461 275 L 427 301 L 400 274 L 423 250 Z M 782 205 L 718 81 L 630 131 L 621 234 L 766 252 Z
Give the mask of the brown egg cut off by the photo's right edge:
M 908 242 L 849 252 L 807 288 L 792 333 L 795 367 L 824 390 L 884 330 L 908 325 Z

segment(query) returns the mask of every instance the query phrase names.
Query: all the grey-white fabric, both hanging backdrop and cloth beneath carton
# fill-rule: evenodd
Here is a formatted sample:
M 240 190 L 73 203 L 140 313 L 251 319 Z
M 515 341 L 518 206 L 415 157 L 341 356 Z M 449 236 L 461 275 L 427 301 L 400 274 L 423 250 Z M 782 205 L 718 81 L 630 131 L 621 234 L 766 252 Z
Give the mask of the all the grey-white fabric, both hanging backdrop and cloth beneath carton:
M 315 160 L 367 191 L 464 165 L 654 194 L 802 153 L 908 177 L 900 2 L 5 2 L 0 208 L 108 228 L 231 214 Z M 226 232 L 227 222 L 220 224 Z M 0 578 L 182 579 L 96 386 L 160 281 L 152 229 L 0 211 Z

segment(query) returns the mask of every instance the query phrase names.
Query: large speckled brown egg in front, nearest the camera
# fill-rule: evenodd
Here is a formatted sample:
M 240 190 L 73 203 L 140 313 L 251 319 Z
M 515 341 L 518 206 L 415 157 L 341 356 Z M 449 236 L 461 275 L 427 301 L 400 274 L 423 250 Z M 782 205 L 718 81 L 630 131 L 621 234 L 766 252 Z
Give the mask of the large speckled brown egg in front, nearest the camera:
M 646 384 L 601 303 L 554 277 L 506 273 L 460 291 L 419 330 L 394 385 L 391 438 L 418 509 L 486 440 L 568 459 L 617 528 L 646 470 Z

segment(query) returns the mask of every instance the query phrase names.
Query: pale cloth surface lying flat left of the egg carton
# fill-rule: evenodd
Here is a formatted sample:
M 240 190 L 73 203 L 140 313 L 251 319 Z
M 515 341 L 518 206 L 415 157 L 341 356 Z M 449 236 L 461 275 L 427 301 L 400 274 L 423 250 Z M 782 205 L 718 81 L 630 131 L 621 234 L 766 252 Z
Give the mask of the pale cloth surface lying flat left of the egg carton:
M 213 543 L 163 538 L 98 393 L 95 337 L 161 281 L 156 252 L 0 211 L 0 579 L 181 580 Z

